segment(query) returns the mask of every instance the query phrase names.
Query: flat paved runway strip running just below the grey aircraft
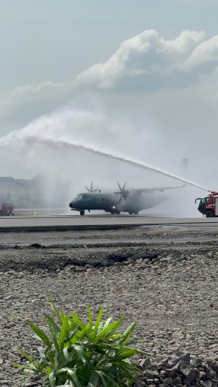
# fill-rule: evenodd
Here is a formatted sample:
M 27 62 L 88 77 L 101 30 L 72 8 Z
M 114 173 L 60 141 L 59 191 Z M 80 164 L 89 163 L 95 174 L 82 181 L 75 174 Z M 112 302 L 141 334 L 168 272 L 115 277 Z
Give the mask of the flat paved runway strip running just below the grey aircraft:
M 181 226 L 203 226 L 215 228 L 218 226 L 217 218 L 205 217 L 151 217 L 149 215 L 38 215 L 0 217 L 0 230 L 20 229 L 29 231 L 34 229 L 83 229 L 97 227 L 121 227 L 121 226 L 149 226 L 149 225 L 172 225 Z

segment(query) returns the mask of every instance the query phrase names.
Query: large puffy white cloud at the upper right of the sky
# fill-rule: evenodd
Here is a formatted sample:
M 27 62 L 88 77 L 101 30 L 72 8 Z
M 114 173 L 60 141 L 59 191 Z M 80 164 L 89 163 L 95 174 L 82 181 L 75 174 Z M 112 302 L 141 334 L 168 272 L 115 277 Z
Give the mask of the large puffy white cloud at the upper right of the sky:
M 76 77 L 76 85 L 102 90 L 144 90 L 184 87 L 210 74 L 218 61 L 218 35 L 185 30 L 167 41 L 156 30 L 124 41 L 107 62 Z

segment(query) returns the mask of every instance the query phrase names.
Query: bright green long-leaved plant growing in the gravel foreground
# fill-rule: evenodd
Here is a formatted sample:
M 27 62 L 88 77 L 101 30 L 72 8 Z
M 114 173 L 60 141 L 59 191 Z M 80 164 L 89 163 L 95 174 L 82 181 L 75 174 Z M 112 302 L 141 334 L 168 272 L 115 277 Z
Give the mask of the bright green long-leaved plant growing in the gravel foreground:
M 26 373 L 22 386 L 32 376 L 37 376 L 42 386 L 50 387 L 132 386 L 140 369 L 130 358 L 137 353 L 148 355 L 129 347 L 135 323 L 121 332 L 124 316 L 115 322 L 111 317 L 103 321 L 100 308 L 94 324 L 88 307 L 88 324 L 84 325 L 77 313 L 59 312 L 49 301 L 55 318 L 46 315 L 47 330 L 29 323 L 43 348 L 36 355 L 20 350 L 26 359 L 25 365 L 16 365 Z

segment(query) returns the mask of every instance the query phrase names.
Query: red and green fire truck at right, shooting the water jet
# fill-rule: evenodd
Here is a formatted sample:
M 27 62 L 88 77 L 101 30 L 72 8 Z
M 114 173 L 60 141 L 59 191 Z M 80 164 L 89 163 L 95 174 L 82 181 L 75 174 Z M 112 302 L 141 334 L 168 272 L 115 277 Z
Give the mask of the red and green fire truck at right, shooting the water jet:
M 198 211 L 206 217 L 218 217 L 218 192 L 210 191 L 205 198 L 196 198 L 199 202 Z

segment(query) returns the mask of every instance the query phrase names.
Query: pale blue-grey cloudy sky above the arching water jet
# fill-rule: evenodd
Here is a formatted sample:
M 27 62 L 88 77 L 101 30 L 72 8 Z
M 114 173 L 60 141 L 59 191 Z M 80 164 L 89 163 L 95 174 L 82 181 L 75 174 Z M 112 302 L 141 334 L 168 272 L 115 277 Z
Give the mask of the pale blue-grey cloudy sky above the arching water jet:
M 188 177 L 216 189 L 217 0 L 0 0 L 0 10 L 0 175 L 69 174 L 32 136 L 172 173 L 189 158 Z M 96 176 L 86 156 L 66 156 L 79 182 Z

